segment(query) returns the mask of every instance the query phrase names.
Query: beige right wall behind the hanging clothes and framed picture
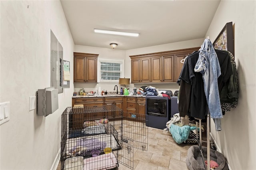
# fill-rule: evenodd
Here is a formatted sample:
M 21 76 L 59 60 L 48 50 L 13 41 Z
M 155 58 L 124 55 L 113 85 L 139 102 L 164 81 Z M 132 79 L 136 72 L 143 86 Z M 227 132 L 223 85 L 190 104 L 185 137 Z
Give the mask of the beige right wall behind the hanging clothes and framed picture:
M 233 22 L 235 60 L 239 77 L 239 100 L 221 120 L 222 131 L 211 133 L 218 150 L 232 170 L 255 170 L 256 157 L 256 1 L 222 0 L 206 33 L 218 36 L 227 22 Z

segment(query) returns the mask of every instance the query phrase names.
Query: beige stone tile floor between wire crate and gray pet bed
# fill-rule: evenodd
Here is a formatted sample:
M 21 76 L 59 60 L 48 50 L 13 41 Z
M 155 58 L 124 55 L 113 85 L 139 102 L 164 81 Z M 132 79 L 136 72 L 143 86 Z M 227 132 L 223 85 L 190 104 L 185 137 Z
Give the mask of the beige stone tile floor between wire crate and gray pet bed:
M 148 127 L 148 150 L 134 148 L 134 170 L 188 170 L 185 161 L 190 146 L 177 144 L 164 130 Z M 119 163 L 118 170 L 130 169 Z

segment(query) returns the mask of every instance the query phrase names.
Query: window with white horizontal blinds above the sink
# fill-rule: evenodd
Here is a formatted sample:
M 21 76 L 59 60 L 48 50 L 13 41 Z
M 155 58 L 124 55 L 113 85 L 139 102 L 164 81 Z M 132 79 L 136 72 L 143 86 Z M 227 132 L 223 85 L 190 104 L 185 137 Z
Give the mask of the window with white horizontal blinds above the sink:
M 101 81 L 112 81 L 119 80 L 122 72 L 122 64 L 121 63 L 113 63 L 113 62 L 100 62 L 100 80 Z

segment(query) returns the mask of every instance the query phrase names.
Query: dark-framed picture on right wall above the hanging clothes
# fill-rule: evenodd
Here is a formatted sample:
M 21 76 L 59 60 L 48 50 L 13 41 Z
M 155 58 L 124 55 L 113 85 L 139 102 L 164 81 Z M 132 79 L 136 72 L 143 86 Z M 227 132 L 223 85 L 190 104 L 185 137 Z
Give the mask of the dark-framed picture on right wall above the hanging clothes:
M 226 23 L 218 37 L 214 40 L 213 46 L 215 49 L 230 51 L 235 56 L 232 22 Z

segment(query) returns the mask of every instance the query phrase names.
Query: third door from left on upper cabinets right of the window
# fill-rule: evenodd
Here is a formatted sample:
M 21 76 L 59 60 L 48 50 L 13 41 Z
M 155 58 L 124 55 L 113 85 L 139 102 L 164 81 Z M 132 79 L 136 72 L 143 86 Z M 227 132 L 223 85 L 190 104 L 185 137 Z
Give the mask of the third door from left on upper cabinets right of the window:
M 162 82 L 162 56 L 151 58 L 151 82 Z

